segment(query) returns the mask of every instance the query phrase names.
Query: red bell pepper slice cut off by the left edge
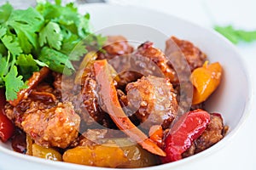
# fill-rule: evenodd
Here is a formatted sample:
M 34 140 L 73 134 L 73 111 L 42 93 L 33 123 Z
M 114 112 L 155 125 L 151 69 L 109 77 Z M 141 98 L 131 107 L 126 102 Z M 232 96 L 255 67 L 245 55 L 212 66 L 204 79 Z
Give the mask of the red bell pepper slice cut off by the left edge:
M 15 126 L 13 122 L 4 115 L 4 105 L 6 104 L 4 89 L 0 88 L 0 139 L 6 142 L 14 133 Z

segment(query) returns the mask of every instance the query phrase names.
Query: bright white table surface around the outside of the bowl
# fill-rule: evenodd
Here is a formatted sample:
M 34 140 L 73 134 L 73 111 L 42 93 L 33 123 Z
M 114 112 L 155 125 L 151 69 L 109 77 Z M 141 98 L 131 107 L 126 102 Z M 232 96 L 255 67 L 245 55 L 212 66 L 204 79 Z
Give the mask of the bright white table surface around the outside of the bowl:
M 3 0 L 0 0 L 3 1 Z M 198 25 L 212 27 L 214 24 L 232 24 L 241 29 L 256 29 L 255 0 L 108 0 L 109 3 L 137 5 L 153 8 L 166 14 L 176 15 Z M 256 82 L 256 42 L 237 45 L 247 65 L 253 84 Z M 255 95 L 253 94 L 253 101 Z M 222 150 L 201 160 L 201 164 L 191 162 L 196 170 L 255 170 L 256 169 L 256 105 L 247 117 L 239 133 Z M 0 153 L 0 165 L 3 155 Z M 17 167 L 18 162 L 17 162 Z M 189 166 L 190 167 L 190 166 Z M 6 169 L 0 166 L 0 169 Z M 21 170 L 22 167 L 19 167 Z M 188 169 L 180 167 L 180 169 Z

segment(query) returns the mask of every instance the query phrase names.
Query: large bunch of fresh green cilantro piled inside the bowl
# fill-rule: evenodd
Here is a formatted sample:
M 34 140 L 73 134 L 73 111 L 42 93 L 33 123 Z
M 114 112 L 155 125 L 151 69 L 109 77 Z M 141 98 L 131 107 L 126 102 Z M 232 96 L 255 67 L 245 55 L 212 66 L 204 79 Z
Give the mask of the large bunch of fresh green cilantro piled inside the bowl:
M 74 3 L 42 1 L 25 10 L 9 3 L 1 6 L 0 88 L 6 89 L 6 99 L 16 99 L 32 72 L 42 66 L 71 75 L 72 61 L 84 56 L 87 46 L 97 50 L 106 40 L 90 27 L 90 14 L 79 14 Z

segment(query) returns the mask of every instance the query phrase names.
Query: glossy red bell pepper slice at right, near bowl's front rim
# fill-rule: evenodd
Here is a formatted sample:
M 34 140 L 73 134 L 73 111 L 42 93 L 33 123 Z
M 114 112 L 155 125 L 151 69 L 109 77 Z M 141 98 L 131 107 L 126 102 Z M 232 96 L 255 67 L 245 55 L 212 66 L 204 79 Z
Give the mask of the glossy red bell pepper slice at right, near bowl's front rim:
M 166 157 L 163 163 L 182 159 L 184 151 L 188 150 L 192 142 L 201 136 L 210 122 L 210 114 L 201 109 L 189 111 L 179 117 L 165 139 Z

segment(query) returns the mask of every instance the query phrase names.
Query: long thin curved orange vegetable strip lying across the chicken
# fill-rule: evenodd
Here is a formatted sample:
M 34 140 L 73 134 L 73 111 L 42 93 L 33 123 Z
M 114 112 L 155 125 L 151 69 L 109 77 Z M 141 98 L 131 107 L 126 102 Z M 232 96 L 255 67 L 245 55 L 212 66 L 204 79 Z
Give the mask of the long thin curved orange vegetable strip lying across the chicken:
M 143 149 L 148 150 L 155 155 L 166 156 L 166 153 L 161 150 L 157 144 L 154 144 L 151 139 L 148 139 L 147 135 L 139 130 L 125 115 L 125 112 L 119 104 L 117 91 L 113 85 L 113 79 L 108 68 L 106 59 L 96 60 L 94 63 L 96 82 L 100 86 L 99 95 L 102 97 L 102 103 L 106 106 L 109 116 L 119 129 L 138 144 L 141 144 Z

